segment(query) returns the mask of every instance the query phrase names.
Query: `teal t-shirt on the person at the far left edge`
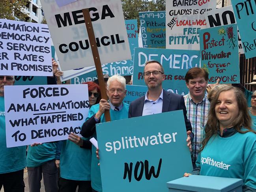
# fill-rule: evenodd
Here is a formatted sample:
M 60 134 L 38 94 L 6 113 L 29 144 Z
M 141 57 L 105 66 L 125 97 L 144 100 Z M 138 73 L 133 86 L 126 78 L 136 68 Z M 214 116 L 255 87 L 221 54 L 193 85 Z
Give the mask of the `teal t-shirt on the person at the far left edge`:
M 4 97 L 0 97 L 0 154 L 0 174 L 19 171 L 26 167 L 26 146 L 6 147 Z

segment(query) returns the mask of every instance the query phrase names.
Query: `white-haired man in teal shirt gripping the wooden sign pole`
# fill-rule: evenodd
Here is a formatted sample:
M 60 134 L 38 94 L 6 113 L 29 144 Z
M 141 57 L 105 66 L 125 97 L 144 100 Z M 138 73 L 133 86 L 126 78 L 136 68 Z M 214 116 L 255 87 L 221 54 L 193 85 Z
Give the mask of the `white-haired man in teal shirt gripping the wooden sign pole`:
M 126 95 L 125 78 L 123 76 L 113 75 L 108 78 L 107 95 L 109 103 L 107 100 L 101 99 L 99 104 L 95 104 L 90 108 L 88 117 L 82 125 L 80 132 L 85 138 L 94 137 L 97 139 L 95 124 L 105 122 L 105 110 L 110 111 L 111 121 L 128 118 L 129 105 L 123 103 L 123 99 Z M 102 192 L 101 172 L 98 166 L 99 160 L 95 155 L 95 151 L 96 148 L 92 146 L 92 191 Z

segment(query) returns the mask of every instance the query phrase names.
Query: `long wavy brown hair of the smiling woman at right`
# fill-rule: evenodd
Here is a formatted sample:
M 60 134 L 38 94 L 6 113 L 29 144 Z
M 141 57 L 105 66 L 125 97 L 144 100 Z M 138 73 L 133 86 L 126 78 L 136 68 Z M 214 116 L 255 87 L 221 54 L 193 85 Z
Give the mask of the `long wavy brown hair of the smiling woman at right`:
M 247 132 L 256 133 L 251 128 L 252 120 L 249 115 L 249 111 L 247 108 L 247 101 L 245 99 L 244 93 L 240 89 L 237 89 L 233 86 L 226 86 L 226 87 L 219 89 L 219 91 L 217 91 L 215 97 L 211 100 L 211 106 L 210 106 L 209 113 L 208 113 L 208 121 L 206 123 L 206 128 L 205 128 L 206 134 L 205 134 L 204 140 L 202 142 L 202 147 L 201 147 L 200 151 L 202 151 L 204 149 L 204 147 L 206 146 L 206 144 L 209 141 L 209 139 L 211 138 L 211 136 L 213 136 L 214 134 L 217 134 L 217 130 L 219 129 L 219 120 L 217 119 L 217 116 L 215 113 L 215 106 L 219 99 L 220 93 L 222 93 L 224 91 L 234 91 L 234 93 L 235 93 L 235 99 L 237 101 L 239 113 L 238 113 L 237 118 L 235 118 L 235 120 L 233 122 L 234 129 L 237 130 L 237 132 L 239 132 L 239 133 L 247 133 Z M 244 127 L 247 130 L 242 131 L 241 130 L 242 127 Z

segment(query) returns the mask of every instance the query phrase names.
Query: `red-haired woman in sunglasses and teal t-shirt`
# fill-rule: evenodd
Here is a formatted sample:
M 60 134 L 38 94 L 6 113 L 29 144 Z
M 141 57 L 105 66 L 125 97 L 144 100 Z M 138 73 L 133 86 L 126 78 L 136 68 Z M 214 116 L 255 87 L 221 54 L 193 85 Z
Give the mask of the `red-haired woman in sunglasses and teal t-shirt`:
M 89 105 L 101 100 L 100 87 L 94 82 L 88 85 Z M 60 155 L 60 192 L 92 192 L 91 187 L 92 144 L 86 138 L 71 133 L 65 140 Z

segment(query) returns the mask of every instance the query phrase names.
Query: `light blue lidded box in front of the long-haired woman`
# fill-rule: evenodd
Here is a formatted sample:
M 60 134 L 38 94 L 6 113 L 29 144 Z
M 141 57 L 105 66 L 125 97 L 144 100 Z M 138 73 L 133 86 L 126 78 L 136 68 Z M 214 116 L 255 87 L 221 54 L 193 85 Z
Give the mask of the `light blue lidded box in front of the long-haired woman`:
M 169 192 L 242 192 L 243 179 L 189 175 L 169 181 Z

